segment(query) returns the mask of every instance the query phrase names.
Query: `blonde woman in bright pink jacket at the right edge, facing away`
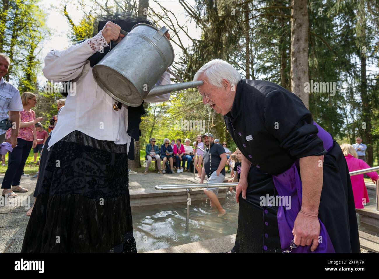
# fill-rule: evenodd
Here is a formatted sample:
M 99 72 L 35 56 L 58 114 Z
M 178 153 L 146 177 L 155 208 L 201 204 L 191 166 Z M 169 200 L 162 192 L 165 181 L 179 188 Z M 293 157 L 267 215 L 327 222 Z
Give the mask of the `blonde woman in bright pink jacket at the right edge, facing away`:
M 365 161 L 358 159 L 357 152 L 352 145 L 343 143 L 340 147 L 345 155 L 346 162 L 348 163 L 349 172 L 370 168 Z M 374 183 L 378 179 L 377 172 L 366 172 L 366 175 L 368 175 Z M 363 208 L 363 204 L 370 202 L 368 199 L 365 181 L 363 180 L 363 173 L 353 175 L 350 179 L 356 208 Z

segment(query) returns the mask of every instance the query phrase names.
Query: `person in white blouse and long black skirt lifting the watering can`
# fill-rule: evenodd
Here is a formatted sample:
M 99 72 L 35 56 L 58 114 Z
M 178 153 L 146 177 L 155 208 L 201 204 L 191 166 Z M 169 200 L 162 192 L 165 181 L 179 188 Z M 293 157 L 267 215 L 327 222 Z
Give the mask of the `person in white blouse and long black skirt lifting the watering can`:
M 137 125 L 138 132 L 139 122 L 131 123 L 128 106 L 97 86 L 92 67 L 108 53 L 110 44 L 113 47 L 124 37 L 121 29 L 128 32 L 140 22 L 151 24 L 128 14 L 105 17 L 99 20 L 93 38 L 47 54 L 45 77 L 56 82 L 70 80 L 75 86 L 49 142 L 22 252 L 136 252 L 128 148 L 130 129 Z M 169 79 L 166 72 L 157 84 L 169 84 Z M 166 94 L 145 101 L 168 98 Z

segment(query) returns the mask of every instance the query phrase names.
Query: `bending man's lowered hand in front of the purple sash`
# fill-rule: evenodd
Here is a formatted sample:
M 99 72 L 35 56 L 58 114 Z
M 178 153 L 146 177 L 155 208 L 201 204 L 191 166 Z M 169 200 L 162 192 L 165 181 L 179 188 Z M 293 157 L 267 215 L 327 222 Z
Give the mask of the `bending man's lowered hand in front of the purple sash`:
M 310 216 L 299 211 L 295 219 L 292 234 L 294 235 L 294 243 L 301 246 L 309 246 L 313 252 L 318 246 L 318 237 L 320 235 L 320 222 L 317 216 Z

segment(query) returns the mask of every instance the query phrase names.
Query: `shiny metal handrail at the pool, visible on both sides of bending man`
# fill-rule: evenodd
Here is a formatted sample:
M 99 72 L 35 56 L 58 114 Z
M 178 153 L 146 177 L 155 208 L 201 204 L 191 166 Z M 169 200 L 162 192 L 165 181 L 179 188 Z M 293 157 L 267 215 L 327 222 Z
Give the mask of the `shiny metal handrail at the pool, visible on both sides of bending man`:
M 200 147 L 199 147 L 200 148 Z M 202 149 L 202 148 L 200 148 Z M 203 150 L 204 151 L 204 150 Z M 363 170 L 354 170 L 353 172 L 349 172 L 350 176 L 358 175 L 361 173 L 366 172 L 372 172 L 372 171 L 379 171 L 379 166 L 377 167 L 371 167 L 368 169 Z M 161 184 L 157 185 L 154 188 L 156 190 L 175 190 L 175 189 L 186 189 L 187 190 L 187 212 L 186 212 L 186 232 L 188 232 L 188 220 L 189 220 L 189 203 L 190 195 L 192 192 L 192 189 L 198 189 L 198 188 L 211 188 L 211 187 L 231 187 L 231 186 L 237 186 L 238 182 L 225 182 L 225 183 L 191 183 L 191 184 Z M 376 180 L 376 211 L 379 211 L 379 179 Z

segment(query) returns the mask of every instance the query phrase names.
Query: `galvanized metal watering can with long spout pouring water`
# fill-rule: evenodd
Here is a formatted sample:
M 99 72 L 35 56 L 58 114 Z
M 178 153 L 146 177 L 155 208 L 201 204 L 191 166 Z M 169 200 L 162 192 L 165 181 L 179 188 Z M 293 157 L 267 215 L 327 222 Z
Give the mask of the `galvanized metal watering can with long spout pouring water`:
M 146 98 L 202 85 L 203 81 L 198 80 L 154 87 L 174 62 L 174 50 L 164 36 L 167 31 L 166 27 L 158 30 L 149 24 L 136 24 L 93 67 L 97 84 L 112 98 L 132 107 L 138 107 Z

